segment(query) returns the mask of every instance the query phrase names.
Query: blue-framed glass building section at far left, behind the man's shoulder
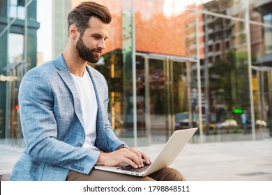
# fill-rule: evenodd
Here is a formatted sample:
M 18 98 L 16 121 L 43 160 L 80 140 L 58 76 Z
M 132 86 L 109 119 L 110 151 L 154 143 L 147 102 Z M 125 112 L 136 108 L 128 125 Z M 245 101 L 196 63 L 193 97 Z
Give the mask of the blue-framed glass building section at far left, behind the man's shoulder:
M 31 19 L 31 22 L 27 22 L 27 28 L 24 1 L 8 1 L 3 1 L 0 12 L 0 137 L 14 145 L 23 146 L 17 95 L 23 75 L 36 66 L 36 31 L 39 24 L 36 22 L 35 0 L 27 8 L 27 20 Z M 12 17 L 19 20 L 12 20 Z

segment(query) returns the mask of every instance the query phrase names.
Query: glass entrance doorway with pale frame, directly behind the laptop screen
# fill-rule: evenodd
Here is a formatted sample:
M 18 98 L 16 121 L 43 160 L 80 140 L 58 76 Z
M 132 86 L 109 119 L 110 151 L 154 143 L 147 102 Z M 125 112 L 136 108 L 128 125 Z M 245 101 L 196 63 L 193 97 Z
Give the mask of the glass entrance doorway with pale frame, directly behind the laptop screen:
M 181 125 L 192 127 L 190 77 L 190 61 L 186 59 L 137 53 L 137 140 L 142 142 L 140 145 L 166 142 Z

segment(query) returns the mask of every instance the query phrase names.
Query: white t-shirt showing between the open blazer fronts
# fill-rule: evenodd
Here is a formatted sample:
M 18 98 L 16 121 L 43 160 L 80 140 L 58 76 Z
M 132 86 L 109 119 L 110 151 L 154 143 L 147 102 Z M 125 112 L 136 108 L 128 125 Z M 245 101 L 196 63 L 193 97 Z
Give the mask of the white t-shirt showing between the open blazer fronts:
M 93 88 L 93 82 L 88 71 L 84 71 L 83 77 L 77 77 L 71 74 L 77 87 L 77 93 L 80 95 L 80 102 L 83 112 L 85 141 L 83 148 L 98 149 L 94 146 L 96 141 L 96 116 L 98 104 L 96 93 Z

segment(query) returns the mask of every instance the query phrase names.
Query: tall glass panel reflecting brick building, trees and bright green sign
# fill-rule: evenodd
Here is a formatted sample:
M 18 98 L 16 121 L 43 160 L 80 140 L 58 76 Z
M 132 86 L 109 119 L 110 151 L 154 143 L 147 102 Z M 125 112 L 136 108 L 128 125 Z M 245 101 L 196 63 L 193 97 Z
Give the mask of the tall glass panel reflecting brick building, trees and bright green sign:
M 204 87 L 204 133 L 206 141 L 252 139 L 250 125 L 243 126 L 241 114 L 250 121 L 250 88 L 245 23 L 207 15 L 205 42 L 209 77 Z M 204 67 L 206 67 L 204 65 Z M 207 74 L 205 71 L 208 71 Z M 203 86 L 203 84 L 202 84 Z M 209 113 L 205 113 L 209 111 Z M 215 134 L 211 136 L 211 134 Z

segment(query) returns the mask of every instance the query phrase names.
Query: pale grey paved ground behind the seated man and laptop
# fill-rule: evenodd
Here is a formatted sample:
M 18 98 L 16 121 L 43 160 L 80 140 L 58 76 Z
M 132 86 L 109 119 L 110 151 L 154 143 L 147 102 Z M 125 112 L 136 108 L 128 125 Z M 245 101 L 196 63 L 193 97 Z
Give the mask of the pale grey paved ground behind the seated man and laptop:
M 163 144 L 138 148 L 154 159 Z M 22 150 L 0 144 L 0 174 L 10 173 Z M 272 139 L 188 143 L 172 167 L 190 181 L 272 181 Z

